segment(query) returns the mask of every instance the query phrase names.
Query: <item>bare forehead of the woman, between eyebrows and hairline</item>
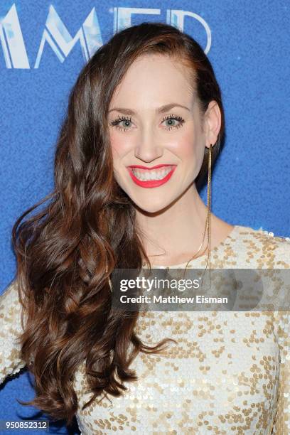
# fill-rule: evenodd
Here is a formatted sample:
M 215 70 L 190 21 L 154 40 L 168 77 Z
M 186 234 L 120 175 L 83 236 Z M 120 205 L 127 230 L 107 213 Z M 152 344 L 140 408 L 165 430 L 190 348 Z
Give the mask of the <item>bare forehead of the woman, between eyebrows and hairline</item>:
M 141 55 L 130 65 L 114 92 L 113 104 L 160 106 L 168 101 L 193 104 L 190 70 L 178 58 L 168 55 Z

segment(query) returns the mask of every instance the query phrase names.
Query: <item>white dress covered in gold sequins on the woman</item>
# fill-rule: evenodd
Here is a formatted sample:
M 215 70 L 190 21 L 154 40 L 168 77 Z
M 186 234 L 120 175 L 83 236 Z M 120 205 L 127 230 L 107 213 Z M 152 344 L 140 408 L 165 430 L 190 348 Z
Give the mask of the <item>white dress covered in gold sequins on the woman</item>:
M 205 269 L 206 261 L 189 267 Z M 289 267 L 289 237 L 241 225 L 211 254 L 212 269 Z M 3 382 L 24 366 L 14 343 L 21 331 L 14 284 L 0 296 L 0 323 Z M 83 411 L 91 394 L 80 365 L 74 387 L 82 434 L 290 434 L 289 311 L 147 311 L 135 331 L 144 343 L 172 337 L 178 345 L 139 353 L 130 366 L 139 380 L 109 396 L 112 404 L 104 398 Z

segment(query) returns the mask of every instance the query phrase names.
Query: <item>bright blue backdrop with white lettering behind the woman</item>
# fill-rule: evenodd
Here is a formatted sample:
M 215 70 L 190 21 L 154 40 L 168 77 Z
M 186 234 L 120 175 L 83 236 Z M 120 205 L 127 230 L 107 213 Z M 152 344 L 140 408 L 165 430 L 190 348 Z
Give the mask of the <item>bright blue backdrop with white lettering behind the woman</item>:
M 290 235 L 289 0 L 1 0 L 1 292 L 16 269 L 11 227 L 53 188 L 55 141 L 70 88 L 100 45 L 142 21 L 178 26 L 213 63 L 226 124 L 213 213 L 233 225 Z M 205 189 L 201 195 L 206 203 Z M 0 419 L 33 419 L 37 410 L 16 402 L 33 393 L 25 371 L 7 380 Z M 68 431 L 60 424 L 58 433 Z

